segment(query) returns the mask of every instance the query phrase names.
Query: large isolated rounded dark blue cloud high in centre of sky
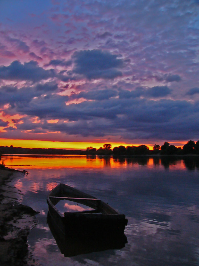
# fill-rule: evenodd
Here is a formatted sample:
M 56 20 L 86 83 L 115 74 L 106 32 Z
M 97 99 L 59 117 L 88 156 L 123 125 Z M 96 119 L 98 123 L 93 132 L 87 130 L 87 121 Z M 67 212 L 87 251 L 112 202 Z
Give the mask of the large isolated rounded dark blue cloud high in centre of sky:
M 75 67 L 73 72 L 82 74 L 88 79 L 114 79 L 122 76 L 117 68 L 123 66 L 123 60 L 117 59 L 117 55 L 102 50 L 82 50 L 74 52 Z

